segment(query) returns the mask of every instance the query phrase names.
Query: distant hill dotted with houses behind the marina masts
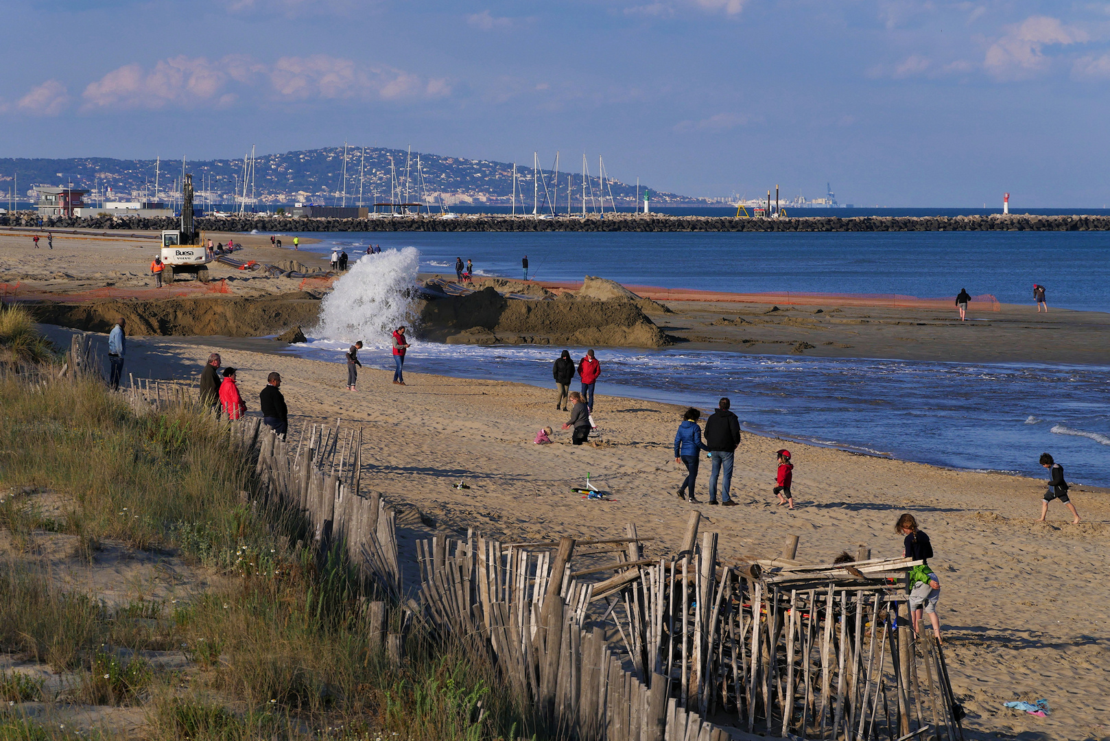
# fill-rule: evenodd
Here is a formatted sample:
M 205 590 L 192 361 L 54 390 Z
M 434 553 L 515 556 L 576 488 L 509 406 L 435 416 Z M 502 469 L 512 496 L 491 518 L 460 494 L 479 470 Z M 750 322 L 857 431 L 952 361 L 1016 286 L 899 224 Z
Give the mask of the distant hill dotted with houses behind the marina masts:
M 365 156 L 365 159 L 363 157 Z M 597 162 L 591 163 L 591 169 Z M 68 186 L 87 188 L 102 193 L 107 186 L 112 189 L 115 200 L 172 200 L 179 192 L 181 161 L 162 160 L 158 164 L 158 190 L 154 193 L 154 160 L 117 160 L 109 158 L 71 159 L 0 159 L 0 192 L 11 187 L 18 174 L 19 190 L 26 198 L 33 184 Z M 555 173 L 543 170 L 533 184 L 531 163 L 517 164 L 517 206 L 532 211 L 534 193 L 538 191 L 539 208 L 548 210 L 549 200 L 557 198 L 556 207 L 567 209 L 567 186 L 571 186 L 571 208 L 582 208 L 581 172 L 558 173 L 557 191 Z M 185 171 L 193 176 L 193 188 L 199 201 L 212 203 L 235 202 L 242 194 L 244 163 L 239 160 L 192 160 L 185 162 Z M 362 177 L 360 177 L 360 171 Z M 254 164 L 254 192 L 260 203 L 291 204 L 312 202 L 335 206 L 343 202 L 343 148 L 325 147 L 284 154 L 260 154 Z M 250 177 L 248 174 L 248 183 Z M 443 157 L 426 152 L 401 149 L 350 148 L 346 153 L 346 204 L 355 206 L 389 201 L 438 203 L 474 203 L 507 206 L 513 193 L 513 164 L 488 160 L 467 160 L 458 157 Z M 545 194 L 546 184 L 546 194 Z M 604 183 L 606 204 L 612 191 L 618 206 L 629 207 L 636 199 L 636 187 L 607 178 Z M 591 171 L 586 188 L 587 208 L 598 203 L 601 183 L 597 172 Z M 640 187 L 643 196 L 644 187 Z M 556 196 L 557 193 L 557 196 Z M 252 198 L 248 184 L 248 198 Z M 703 199 L 688 198 L 676 193 L 659 193 L 652 189 L 653 203 L 703 204 Z

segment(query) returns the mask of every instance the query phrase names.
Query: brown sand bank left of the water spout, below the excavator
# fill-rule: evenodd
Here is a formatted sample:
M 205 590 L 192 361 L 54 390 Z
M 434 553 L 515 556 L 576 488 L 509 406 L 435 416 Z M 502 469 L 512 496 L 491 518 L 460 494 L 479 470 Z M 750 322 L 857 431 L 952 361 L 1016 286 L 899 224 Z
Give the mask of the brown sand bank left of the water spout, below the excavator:
M 85 331 L 107 332 L 123 317 L 128 334 L 224 337 L 258 337 L 312 326 L 319 309 L 320 301 L 300 292 L 261 299 L 206 296 L 162 301 L 43 302 L 33 308 L 39 321 Z

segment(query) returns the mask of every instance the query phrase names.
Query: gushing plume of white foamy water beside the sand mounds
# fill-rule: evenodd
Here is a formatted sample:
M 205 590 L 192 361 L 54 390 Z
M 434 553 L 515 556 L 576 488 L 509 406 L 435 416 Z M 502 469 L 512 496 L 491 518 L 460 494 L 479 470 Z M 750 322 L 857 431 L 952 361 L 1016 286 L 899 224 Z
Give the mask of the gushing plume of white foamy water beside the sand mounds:
M 383 250 L 359 258 L 320 304 L 315 338 L 371 347 L 389 342 L 390 334 L 415 320 L 413 297 L 420 251 L 414 247 Z

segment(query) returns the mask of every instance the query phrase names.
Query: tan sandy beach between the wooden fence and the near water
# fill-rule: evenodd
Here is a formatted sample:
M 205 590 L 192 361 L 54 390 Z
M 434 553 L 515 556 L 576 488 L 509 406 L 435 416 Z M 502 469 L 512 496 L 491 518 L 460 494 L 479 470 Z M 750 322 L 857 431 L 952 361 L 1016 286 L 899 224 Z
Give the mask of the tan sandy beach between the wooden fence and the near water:
M 67 331 L 51 334 L 64 341 Z M 307 422 L 337 417 L 365 427 L 363 485 L 401 507 L 401 545 L 410 554 L 430 530 L 473 528 L 521 542 L 620 537 L 627 522 L 655 539 L 649 557 L 678 548 L 693 507 L 675 493 L 683 478 L 672 454 L 679 408 L 604 395 L 599 383 L 601 447 L 575 448 L 559 429 L 567 414 L 553 409 L 553 390 L 421 374 L 413 357 L 406 387 L 390 383 L 386 371 L 363 369 L 352 393 L 344 388 L 345 369 L 334 363 L 220 351 L 225 366 L 240 369 L 252 413 L 266 374 L 276 370 L 293 434 Z M 209 352 L 198 340 L 137 338 L 125 372 L 189 378 Z M 536 430 L 548 424 L 555 444 L 533 444 Z M 798 558 L 807 562 L 828 562 L 859 544 L 875 558 L 898 557 L 902 544 L 894 522 L 914 512 L 937 553 L 941 625 L 969 738 L 1110 735 L 1110 587 L 1101 578 L 1110 567 L 1110 492 L 1073 487 L 1083 522 L 1069 524 L 1053 503 L 1049 522 L 1038 523 L 1040 480 L 787 444 L 796 464 L 794 511 L 775 505 L 770 493 L 774 451 L 783 441 L 745 434 L 733 480 L 739 507 L 704 503 L 709 471 L 703 464 L 703 503 L 696 507 L 707 518 L 703 529 L 720 534 L 725 560 L 775 555 L 789 534 L 800 535 Z M 1081 461 L 1063 463 L 1069 474 L 1080 474 Z M 569 492 L 587 472 L 614 501 Z M 471 489 L 453 489 L 458 481 Z M 1041 698 L 1052 708 L 1048 718 L 1002 707 Z

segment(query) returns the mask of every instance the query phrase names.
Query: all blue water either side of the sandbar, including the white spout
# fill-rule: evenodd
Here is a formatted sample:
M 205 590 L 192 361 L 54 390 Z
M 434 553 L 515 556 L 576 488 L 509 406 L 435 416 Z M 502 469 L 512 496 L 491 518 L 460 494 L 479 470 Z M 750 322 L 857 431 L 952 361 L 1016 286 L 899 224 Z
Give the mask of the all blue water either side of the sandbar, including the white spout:
M 291 236 L 291 234 L 290 234 Z M 363 362 L 392 368 L 384 328 L 400 321 L 393 298 L 415 273 L 454 271 L 713 291 L 899 293 L 921 298 L 991 293 L 1035 311 L 1032 286 L 1050 309 L 1110 311 L 1110 233 L 305 233 L 359 259 L 335 283 L 332 311 L 290 352 L 341 362 L 353 339 Z M 371 244 L 383 253 L 365 257 Z M 326 307 L 325 307 L 326 309 Z M 325 313 L 327 313 L 325 311 Z M 342 319 L 341 319 L 342 318 Z M 376 338 L 376 340 L 375 340 Z M 1108 338 L 1110 341 L 1110 338 Z M 562 348 L 559 348 L 562 349 Z M 569 348 L 575 357 L 584 348 Z M 410 371 L 551 387 L 547 347 L 415 343 Z M 1110 487 L 1110 367 L 1031 358 L 969 363 L 892 358 L 826 359 L 683 349 L 599 350 L 602 393 L 713 409 L 727 395 L 750 432 L 953 469 L 1043 477 L 1050 452 L 1070 481 Z M 619 404 L 597 405 L 605 415 Z M 553 422 L 558 421 L 553 415 Z M 678 419 L 675 424 L 677 427 Z M 669 441 L 664 441 L 669 442 Z M 799 472 L 804 460 L 796 460 Z M 769 465 L 769 463 L 768 463 Z

